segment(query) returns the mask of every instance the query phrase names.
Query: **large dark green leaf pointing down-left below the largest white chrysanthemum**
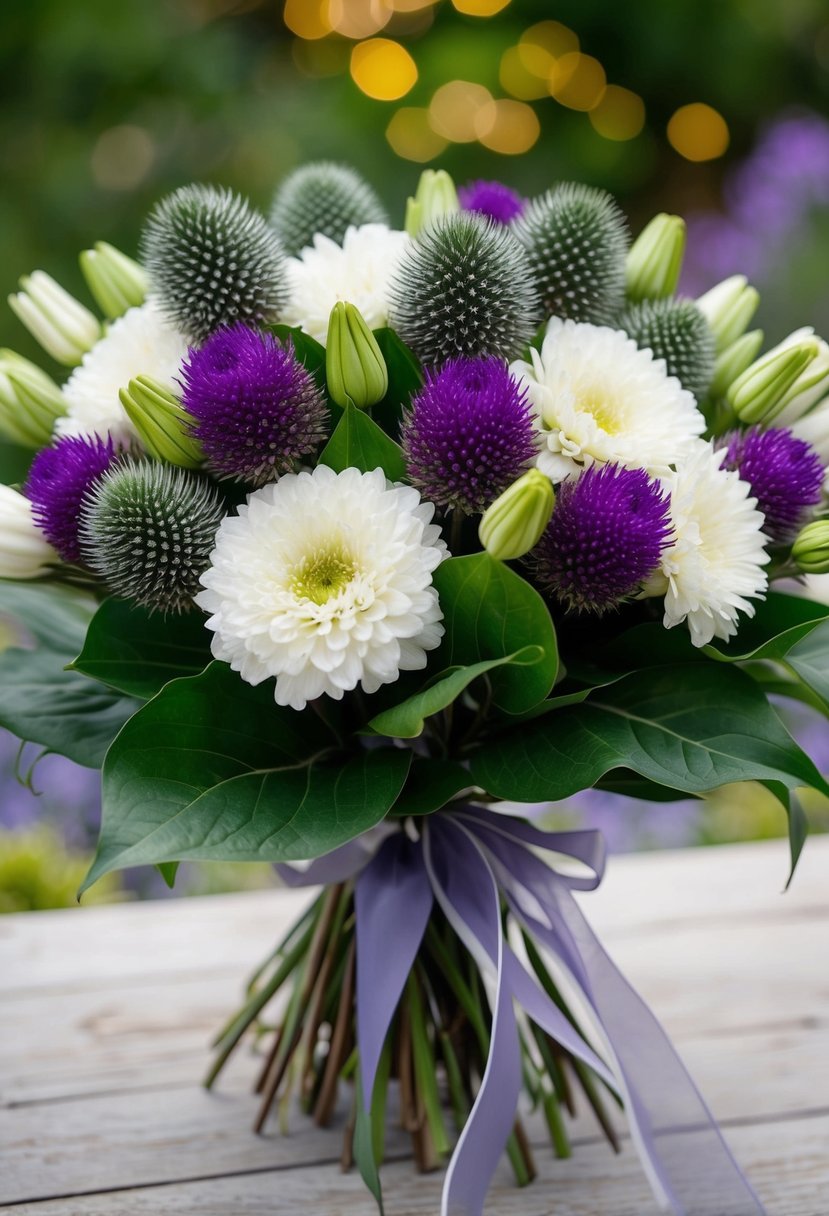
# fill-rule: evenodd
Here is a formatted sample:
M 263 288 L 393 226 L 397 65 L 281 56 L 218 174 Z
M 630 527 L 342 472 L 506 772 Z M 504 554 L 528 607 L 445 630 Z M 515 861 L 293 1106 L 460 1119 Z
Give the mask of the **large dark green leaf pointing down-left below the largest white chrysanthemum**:
M 124 866 L 316 857 L 383 818 L 410 761 L 399 748 L 343 755 L 316 715 L 214 663 L 167 685 L 109 749 L 84 888 Z

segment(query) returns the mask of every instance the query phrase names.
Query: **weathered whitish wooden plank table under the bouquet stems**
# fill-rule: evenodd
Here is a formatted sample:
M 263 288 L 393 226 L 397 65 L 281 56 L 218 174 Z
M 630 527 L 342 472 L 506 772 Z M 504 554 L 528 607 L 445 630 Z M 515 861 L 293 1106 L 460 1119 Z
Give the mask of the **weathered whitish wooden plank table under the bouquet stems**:
M 666 814 L 669 809 L 666 807 Z M 783 895 L 783 843 L 633 856 L 583 897 L 662 1018 L 769 1216 L 829 1211 L 829 839 Z M 243 1051 L 218 1092 L 208 1041 L 306 893 L 0 917 L 0 1211 L 16 1216 L 371 1216 L 339 1130 L 294 1111 L 254 1136 Z M 540 1181 L 501 1164 L 487 1214 L 650 1216 L 627 1142 L 588 1120 L 575 1155 L 538 1139 Z M 388 1216 L 436 1216 L 390 1133 Z M 712 1214 L 716 1216 L 716 1214 Z

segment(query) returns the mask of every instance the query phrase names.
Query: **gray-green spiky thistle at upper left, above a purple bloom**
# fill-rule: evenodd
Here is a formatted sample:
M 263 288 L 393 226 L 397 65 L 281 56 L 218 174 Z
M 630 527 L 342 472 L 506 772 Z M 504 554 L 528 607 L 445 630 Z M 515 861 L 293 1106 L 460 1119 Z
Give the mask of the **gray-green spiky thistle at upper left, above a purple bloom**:
M 194 342 L 235 321 L 275 321 L 288 297 L 282 246 L 232 190 L 168 195 L 147 220 L 141 257 L 162 309 Z

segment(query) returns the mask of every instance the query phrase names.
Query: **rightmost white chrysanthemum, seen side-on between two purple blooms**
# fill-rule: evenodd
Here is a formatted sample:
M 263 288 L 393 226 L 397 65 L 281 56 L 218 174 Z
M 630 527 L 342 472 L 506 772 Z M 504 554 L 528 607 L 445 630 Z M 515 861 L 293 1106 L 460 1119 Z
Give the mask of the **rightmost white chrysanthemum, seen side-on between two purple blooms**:
M 647 593 L 665 596 L 665 627 L 687 620 L 694 646 L 733 637 L 738 613 L 754 617 L 751 599 L 762 599 L 768 584 L 763 514 L 749 484 L 720 467 L 724 455 L 700 443 L 662 479 L 671 494 L 673 541 Z

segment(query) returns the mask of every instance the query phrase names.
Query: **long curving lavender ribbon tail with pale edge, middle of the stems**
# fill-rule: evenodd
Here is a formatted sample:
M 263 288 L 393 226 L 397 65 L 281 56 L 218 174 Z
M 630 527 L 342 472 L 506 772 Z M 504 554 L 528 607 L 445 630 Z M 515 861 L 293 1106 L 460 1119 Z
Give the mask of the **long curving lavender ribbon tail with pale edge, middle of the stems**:
M 470 921 L 464 914 L 467 907 L 463 894 L 458 889 L 450 893 L 438 877 L 434 858 L 429 851 L 430 839 L 432 833 L 428 833 L 424 843 L 424 857 L 438 902 L 458 938 L 476 961 L 484 962 L 485 959 L 486 970 L 490 974 L 495 962 L 496 970 L 492 1035 L 486 1068 L 475 1102 L 446 1171 L 440 1207 L 441 1216 L 481 1216 L 492 1175 L 515 1122 L 515 1110 L 521 1090 L 518 1025 L 513 993 L 504 968 L 507 946 L 503 940 L 495 876 L 481 856 L 480 861 L 486 866 L 489 874 L 486 886 L 481 884 L 475 891 L 478 908 L 483 908 L 486 914 L 486 938 L 489 940 L 483 940 L 484 935 L 479 936 L 474 931 Z M 492 958 L 492 948 L 495 948 L 495 958 Z

